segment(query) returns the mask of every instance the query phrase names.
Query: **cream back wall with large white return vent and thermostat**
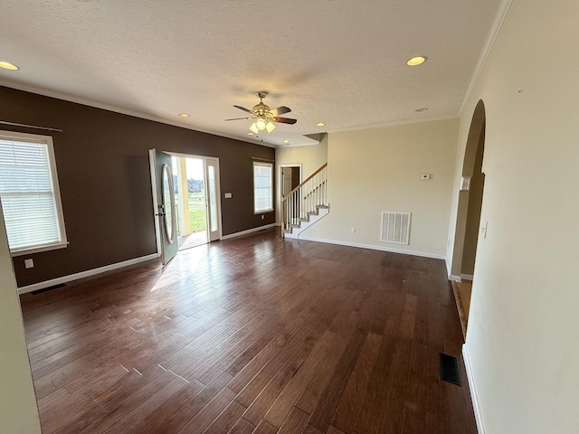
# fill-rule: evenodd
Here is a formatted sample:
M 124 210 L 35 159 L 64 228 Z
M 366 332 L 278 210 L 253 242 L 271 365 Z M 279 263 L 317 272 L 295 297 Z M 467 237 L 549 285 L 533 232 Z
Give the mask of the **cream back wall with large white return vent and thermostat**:
M 330 212 L 300 236 L 444 258 L 458 125 L 456 118 L 330 134 Z M 383 211 L 412 212 L 410 245 L 379 241 Z

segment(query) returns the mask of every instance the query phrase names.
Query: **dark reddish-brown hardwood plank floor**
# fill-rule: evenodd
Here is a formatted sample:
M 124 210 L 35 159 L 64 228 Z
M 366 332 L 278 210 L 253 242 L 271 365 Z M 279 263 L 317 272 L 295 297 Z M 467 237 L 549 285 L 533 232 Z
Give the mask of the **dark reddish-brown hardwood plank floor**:
M 476 433 L 443 261 L 276 233 L 22 296 L 43 433 Z

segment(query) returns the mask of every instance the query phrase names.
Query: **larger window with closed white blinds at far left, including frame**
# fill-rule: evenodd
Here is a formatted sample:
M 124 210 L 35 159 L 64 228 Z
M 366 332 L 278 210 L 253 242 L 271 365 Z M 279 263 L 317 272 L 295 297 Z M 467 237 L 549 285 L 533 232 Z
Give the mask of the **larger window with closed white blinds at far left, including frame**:
M 0 131 L 0 200 L 13 256 L 66 247 L 52 137 Z

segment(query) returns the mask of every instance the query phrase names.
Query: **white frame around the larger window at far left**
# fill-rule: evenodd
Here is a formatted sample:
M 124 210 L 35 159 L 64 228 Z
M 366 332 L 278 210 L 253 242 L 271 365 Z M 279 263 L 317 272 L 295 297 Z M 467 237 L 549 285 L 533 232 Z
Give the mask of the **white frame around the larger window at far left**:
M 54 201 L 54 209 L 56 212 L 56 224 L 58 226 L 59 241 L 35 244 L 27 247 L 20 247 L 17 249 L 10 249 L 12 257 L 27 255 L 31 253 L 38 253 L 41 251 L 63 249 L 69 245 L 66 238 L 66 229 L 64 226 L 64 214 L 62 212 L 61 188 L 58 182 L 58 173 L 56 170 L 56 157 L 54 156 L 54 145 L 51 136 L 41 136 L 37 134 L 17 133 L 14 131 L 0 130 L 0 139 L 7 141 L 27 142 L 35 145 L 46 146 L 46 153 L 48 156 L 48 168 L 51 175 L 52 182 L 52 198 Z M 2 203 L 0 202 L 0 206 Z M 4 215 L 4 213 L 3 213 Z M 5 224 L 5 222 L 2 222 Z M 6 228 L 7 232 L 7 228 Z

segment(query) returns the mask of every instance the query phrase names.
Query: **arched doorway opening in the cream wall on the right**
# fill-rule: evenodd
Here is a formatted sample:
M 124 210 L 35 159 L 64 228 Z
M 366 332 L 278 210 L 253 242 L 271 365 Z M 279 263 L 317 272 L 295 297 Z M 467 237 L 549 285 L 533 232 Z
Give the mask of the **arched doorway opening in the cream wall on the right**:
M 484 227 L 480 222 L 485 174 L 482 161 L 485 147 L 486 113 L 482 100 L 470 121 L 469 137 L 462 163 L 462 178 L 459 193 L 454 251 L 451 275 L 460 283 L 453 282 L 460 324 L 466 337 L 469 319 L 470 292 L 474 275 L 479 233 Z M 485 228 L 486 230 L 486 228 Z

